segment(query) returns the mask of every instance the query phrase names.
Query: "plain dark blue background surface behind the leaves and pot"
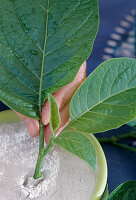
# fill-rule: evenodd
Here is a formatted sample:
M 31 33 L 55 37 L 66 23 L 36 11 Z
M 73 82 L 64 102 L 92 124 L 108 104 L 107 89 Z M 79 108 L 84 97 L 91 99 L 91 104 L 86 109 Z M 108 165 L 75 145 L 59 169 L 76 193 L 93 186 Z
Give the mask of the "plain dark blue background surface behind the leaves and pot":
M 87 61 L 87 74 L 90 74 L 101 62 L 104 54 L 104 47 L 110 34 L 119 25 L 119 21 L 136 8 L 135 0 L 101 0 L 100 1 L 100 28 L 95 40 L 91 56 Z M 0 110 L 6 107 L 0 103 Z M 111 134 L 122 134 L 128 132 L 130 128 L 123 126 L 120 129 L 109 131 L 109 133 L 99 134 L 101 136 L 111 136 Z M 98 135 L 98 134 L 97 134 Z M 132 140 L 125 140 L 125 143 L 131 143 Z M 111 145 L 102 145 L 108 163 L 108 185 L 112 191 L 120 183 L 127 180 L 136 180 L 136 154 L 128 150 L 113 147 Z

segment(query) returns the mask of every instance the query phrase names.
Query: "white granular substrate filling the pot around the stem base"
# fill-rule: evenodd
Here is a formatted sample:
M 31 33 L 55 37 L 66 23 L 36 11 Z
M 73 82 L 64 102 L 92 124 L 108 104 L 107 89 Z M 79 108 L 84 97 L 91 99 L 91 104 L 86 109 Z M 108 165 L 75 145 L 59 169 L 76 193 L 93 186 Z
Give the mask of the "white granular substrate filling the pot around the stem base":
M 34 181 L 38 138 L 23 123 L 0 126 L 1 200 L 90 200 L 95 173 L 81 159 L 55 146 L 46 156 L 44 177 Z

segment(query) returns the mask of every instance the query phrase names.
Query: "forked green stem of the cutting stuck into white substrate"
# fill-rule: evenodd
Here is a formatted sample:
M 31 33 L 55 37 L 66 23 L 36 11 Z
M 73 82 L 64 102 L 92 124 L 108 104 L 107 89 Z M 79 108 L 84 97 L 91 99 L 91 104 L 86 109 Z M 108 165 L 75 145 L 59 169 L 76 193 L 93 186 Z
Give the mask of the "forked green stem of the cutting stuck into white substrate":
M 37 164 L 36 164 L 36 168 L 35 168 L 35 173 L 33 176 L 34 179 L 42 178 L 43 175 L 42 175 L 41 169 L 42 169 L 44 157 L 52 149 L 53 146 L 54 146 L 54 139 L 52 138 L 50 140 L 49 145 L 44 147 L 44 128 L 43 128 L 42 121 L 40 120 L 39 155 L 38 155 L 38 160 L 37 160 Z

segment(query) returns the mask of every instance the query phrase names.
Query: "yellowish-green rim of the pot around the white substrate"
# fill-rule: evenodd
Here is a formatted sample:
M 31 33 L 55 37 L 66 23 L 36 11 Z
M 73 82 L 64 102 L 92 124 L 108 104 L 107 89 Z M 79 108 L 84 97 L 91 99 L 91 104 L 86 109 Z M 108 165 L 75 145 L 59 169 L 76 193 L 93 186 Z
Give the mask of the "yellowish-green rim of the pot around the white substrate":
M 13 123 L 20 121 L 19 117 L 12 110 L 0 112 L 0 124 Z M 91 138 L 97 154 L 97 163 L 99 166 L 96 174 L 96 187 L 91 200 L 100 200 L 107 183 L 107 163 L 104 152 L 94 135 L 89 135 Z

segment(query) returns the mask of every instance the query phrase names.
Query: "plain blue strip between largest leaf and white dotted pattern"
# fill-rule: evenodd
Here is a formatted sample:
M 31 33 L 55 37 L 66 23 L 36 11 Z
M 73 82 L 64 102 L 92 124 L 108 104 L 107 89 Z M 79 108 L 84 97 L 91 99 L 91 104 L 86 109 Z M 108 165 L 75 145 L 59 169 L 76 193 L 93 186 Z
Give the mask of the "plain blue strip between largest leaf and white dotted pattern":
M 99 0 L 100 26 L 94 43 L 93 51 L 87 61 L 87 74 L 90 74 L 101 62 L 106 42 L 115 27 L 124 20 L 132 9 L 136 9 L 135 0 Z

